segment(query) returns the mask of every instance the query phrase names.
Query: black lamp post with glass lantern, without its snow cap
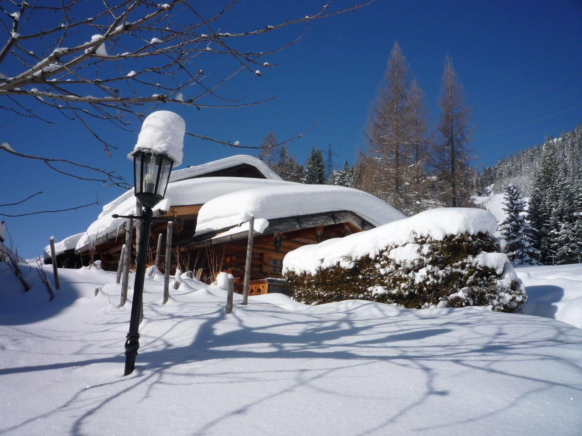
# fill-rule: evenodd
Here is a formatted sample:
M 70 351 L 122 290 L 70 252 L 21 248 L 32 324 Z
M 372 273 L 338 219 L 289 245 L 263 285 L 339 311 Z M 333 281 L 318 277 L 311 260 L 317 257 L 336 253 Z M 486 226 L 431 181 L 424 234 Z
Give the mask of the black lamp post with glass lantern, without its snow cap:
M 135 177 L 136 197 L 144 206 L 141 217 L 141 240 L 136 259 L 136 275 L 133 285 L 132 315 L 129 320 L 129 333 L 125 341 L 125 372 L 128 376 L 136 365 L 137 350 L 140 348 L 140 315 L 141 302 L 143 300 L 145 279 L 145 258 L 147 256 L 148 242 L 150 239 L 151 221 L 175 221 L 161 218 L 152 218 L 151 208 L 164 199 L 170 172 L 174 164 L 173 159 L 164 154 L 137 150 L 133 153 L 133 171 Z M 113 215 L 114 218 L 123 217 Z

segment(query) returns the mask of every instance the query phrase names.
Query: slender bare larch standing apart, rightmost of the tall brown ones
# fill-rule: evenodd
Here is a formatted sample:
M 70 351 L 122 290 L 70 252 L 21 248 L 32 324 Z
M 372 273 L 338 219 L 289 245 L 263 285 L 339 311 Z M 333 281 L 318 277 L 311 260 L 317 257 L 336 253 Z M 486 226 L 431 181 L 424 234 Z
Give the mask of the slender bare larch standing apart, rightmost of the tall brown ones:
M 470 108 L 465 104 L 463 88 L 449 56 L 442 73 L 439 108 L 438 138 L 434 149 L 440 203 L 453 208 L 468 205 L 471 203 Z

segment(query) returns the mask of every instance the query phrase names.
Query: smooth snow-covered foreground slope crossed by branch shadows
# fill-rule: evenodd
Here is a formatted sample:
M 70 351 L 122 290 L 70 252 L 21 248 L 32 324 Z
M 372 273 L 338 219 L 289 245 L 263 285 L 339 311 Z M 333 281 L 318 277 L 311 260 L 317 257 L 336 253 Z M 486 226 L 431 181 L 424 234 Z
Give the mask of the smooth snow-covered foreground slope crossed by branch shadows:
M 51 267 L 45 271 L 52 280 Z M 582 276 L 573 267 L 520 271 L 532 277 L 528 292 L 540 280 L 561 287 Z M 248 306 L 235 295 L 226 315 L 225 291 L 188 279 L 162 305 L 158 274 L 145 284 L 136 371 L 122 377 L 130 303 L 117 308 L 115 275 L 59 272 L 61 290 L 48 303 L 34 270 L 24 266 L 34 285 L 26 294 L 0 271 L 2 434 L 582 428 L 582 330 L 560 321 L 364 301 L 306 306 L 276 294 L 251 296 Z

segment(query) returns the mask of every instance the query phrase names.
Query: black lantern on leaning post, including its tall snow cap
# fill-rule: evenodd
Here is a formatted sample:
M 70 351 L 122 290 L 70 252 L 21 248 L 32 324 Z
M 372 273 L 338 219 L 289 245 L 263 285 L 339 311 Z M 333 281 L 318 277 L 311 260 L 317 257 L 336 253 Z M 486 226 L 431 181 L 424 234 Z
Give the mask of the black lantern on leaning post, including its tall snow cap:
M 182 147 L 186 123 L 178 114 L 168 110 L 153 112 L 144 120 L 137 144 L 128 158 L 133 158 L 135 195 L 144 206 L 141 216 L 113 215 L 113 218 L 141 220 L 140 246 L 137 250 L 136 274 L 133 285 L 132 313 L 125 341 L 124 376 L 131 374 L 140 348 L 140 318 L 145 280 L 145 259 L 150 239 L 151 222 L 179 221 L 154 218 L 152 208 L 164 199 L 174 165 L 182 163 Z M 139 214 L 137 214 L 139 215 Z

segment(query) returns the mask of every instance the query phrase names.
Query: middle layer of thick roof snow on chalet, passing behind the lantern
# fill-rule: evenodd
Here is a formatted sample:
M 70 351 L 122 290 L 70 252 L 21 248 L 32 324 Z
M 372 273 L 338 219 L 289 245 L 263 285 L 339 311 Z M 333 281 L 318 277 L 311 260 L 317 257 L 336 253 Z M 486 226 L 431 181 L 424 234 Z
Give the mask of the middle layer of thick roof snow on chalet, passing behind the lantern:
M 293 184 L 283 180 L 267 180 L 264 178 L 249 177 L 201 177 L 189 178 L 168 184 L 166 198 L 154 208 L 167 211 L 171 206 L 202 205 L 205 202 L 229 192 L 247 190 L 249 188 L 264 187 L 272 185 Z M 100 213 L 87 232 L 81 235 L 77 242 L 76 249 L 81 249 L 90 241 L 109 235 L 110 239 L 115 238 L 119 231 L 125 229 L 125 218 L 113 218 L 114 213 L 118 215 L 130 215 L 136 213 L 136 198 L 133 190 L 124 192 L 118 198 L 103 206 Z M 168 200 L 168 201 L 166 201 Z M 164 214 L 161 214 L 164 215 Z M 248 221 L 248 220 L 247 220 Z

